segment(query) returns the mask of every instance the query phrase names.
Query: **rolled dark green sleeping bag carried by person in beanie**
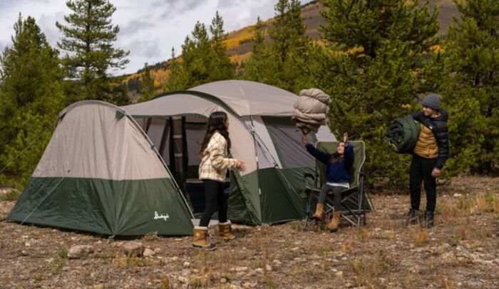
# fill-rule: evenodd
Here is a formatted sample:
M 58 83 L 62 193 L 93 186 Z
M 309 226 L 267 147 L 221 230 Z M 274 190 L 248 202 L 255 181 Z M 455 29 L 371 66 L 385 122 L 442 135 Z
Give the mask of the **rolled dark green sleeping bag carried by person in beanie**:
M 418 142 L 421 127 L 411 115 L 397 118 L 390 123 L 385 141 L 398 154 L 411 154 Z

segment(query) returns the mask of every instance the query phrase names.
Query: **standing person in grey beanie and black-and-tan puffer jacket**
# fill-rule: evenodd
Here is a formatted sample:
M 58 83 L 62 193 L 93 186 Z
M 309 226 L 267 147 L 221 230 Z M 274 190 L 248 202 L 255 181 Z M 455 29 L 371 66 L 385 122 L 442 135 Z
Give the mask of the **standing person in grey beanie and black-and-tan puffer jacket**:
M 433 226 L 436 206 L 436 178 L 440 176 L 448 159 L 448 114 L 440 107 L 440 98 L 430 93 L 423 100 L 423 110 L 413 113 L 414 120 L 421 123 L 421 132 L 413 152 L 410 174 L 411 210 L 408 224 L 418 222 L 421 203 L 421 182 L 426 191 L 426 212 L 423 226 Z

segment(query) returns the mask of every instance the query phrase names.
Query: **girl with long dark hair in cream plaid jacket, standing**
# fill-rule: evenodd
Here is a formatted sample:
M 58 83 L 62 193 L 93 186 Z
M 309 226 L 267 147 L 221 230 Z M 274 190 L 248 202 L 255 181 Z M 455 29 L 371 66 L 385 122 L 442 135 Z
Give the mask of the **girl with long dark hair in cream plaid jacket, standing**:
M 237 159 L 230 159 L 229 120 L 225 112 L 213 112 L 208 120 L 206 135 L 201 144 L 201 163 L 199 178 L 205 182 L 205 212 L 200 226 L 194 228 L 192 246 L 214 249 L 215 245 L 207 241 L 208 224 L 215 211 L 218 211 L 218 228 L 222 240 L 235 238 L 231 233 L 230 221 L 227 220 L 227 196 L 224 194 L 227 169 L 245 170 L 245 164 Z

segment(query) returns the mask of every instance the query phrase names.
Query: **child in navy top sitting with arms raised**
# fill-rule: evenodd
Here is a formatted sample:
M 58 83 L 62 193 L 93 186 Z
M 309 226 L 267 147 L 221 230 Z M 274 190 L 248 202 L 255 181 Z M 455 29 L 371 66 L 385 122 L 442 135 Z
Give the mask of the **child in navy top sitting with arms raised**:
M 338 143 L 336 153 L 327 154 L 309 143 L 307 135 L 302 137 L 302 142 L 307 147 L 307 151 L 316 159 L 326 165 L 326 184 L 322 186 L 319 194 L 319 201 L 312 218 L 321 220 L 324 212 L 324 201 L 326 195 L 333 194 L 334 214 L 331 222 L 327 225 L 330 231 L 336 231 L 339 226 L 341 216 L 341 191 L 350 188 L 350 169 L 354 164 L 354 146 L 346 141 L 346 135 L 342 142 Z

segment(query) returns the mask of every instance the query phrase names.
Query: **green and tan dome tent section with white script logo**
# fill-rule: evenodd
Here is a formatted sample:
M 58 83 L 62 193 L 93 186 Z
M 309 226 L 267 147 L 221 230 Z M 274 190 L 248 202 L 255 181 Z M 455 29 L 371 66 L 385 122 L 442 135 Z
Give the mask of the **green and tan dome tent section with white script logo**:
M 133 117 L 98 101 L 67 107 L 9 220 L 108 236 L 190 235 L 192 213 Z

